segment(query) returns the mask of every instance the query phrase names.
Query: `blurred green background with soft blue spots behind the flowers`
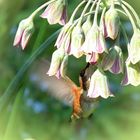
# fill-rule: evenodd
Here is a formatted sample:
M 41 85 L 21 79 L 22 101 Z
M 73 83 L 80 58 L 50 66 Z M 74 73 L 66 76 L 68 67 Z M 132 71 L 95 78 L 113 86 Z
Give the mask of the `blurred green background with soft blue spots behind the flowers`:
M 69 14 L 79 1 L 69 1 Z M 42 82 L 40 78 L 46 76 L 47 71 L 47 64 L 42 65 L 40 62 L 51 59 L 55 50 L 53 45 L 31 64 L 10 100 L 5 100 L 8 95 L 2 98 L 34 50 L 60 28 L 59 25 L 50 26 L 46 20 L 36 18 L 36 31 L 27 49 L 21 51 L 12 46 L 19 21 L 44 2 L 45 0 L 0 0 L 0 104 L 6 103 L 0 112 L 0 140 L 140 140 L 140 87 L 121 87 L 121 76 L 116 78 L 109 75 L 115 98 L 101 100 L 92 118 L 69 123 L 72 109 L 51 96 L 47 82 Z M 139 1 L 128 2 L 140 14 Z M 125 24 L 131 34 L 131 26 L 127 21 Z M 76 60 L 72 58 L 71 61 Z M 84 64 L 82 60 L 70 64 L 72 70 L 69 74 L 74 81 L 77 82 L 79 70 Z M 73 69 L 77 69 L 76 73 L 73 73 Z M 56 80 L 52 84 L 58 82 Z

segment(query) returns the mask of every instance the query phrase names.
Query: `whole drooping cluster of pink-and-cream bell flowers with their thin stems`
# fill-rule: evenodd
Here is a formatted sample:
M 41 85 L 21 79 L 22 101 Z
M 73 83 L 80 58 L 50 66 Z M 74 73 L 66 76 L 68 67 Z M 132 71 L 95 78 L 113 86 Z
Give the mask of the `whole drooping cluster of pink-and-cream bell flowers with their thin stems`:
M 66 78 L 67 61 L 70 55 L 77 59 L 85 56 L 85 61 L 94 67 L 89 78 L 87 96 L 89 98 L 108 98 L 109 90 L 106 71 L 123 74 L 122 84 L 140 85 L 140 19 L 131 5 L 124 0 L 82 0 L 67 16 L 68 0 L 50 0 L 36 9 L 19 24 L 14 46 L 25 49 L 33 34 L 34 18 L 40 15 L 50 24 L 59 23 L 62 29 L 55 43 L 56 51 L 48 74 Z M 82 11 L 79 15 L 79 11 Z M 122 15 L 128 18 L 133 28 L 129 39 L 125 31 Z M 120 35 L 128 49 L 123 57 Z M 107 43 L 110 38 L 114 44 Z

